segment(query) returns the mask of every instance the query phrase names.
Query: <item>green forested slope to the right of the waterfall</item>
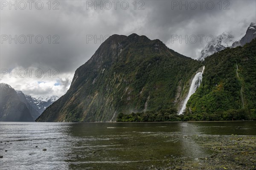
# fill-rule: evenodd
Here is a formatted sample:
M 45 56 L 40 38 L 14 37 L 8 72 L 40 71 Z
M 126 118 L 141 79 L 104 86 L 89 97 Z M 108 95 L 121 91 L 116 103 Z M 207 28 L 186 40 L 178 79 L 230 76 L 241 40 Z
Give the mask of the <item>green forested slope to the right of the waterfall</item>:
M 227 48 L 204 61 L 201 86 L 186 105 L 194 120 L 256 118 L 256 39 Z

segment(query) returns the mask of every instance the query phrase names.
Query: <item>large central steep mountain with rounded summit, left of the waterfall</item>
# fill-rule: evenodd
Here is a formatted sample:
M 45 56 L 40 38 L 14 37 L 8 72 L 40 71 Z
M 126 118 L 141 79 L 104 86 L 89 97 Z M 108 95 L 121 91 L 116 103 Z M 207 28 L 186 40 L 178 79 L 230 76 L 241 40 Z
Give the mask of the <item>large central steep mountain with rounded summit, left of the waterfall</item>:
M 160 40 L 115 34 L 76 70 L 67 93 L 36 121 L 115 121 L 120 112 L 177 111 L 202 66 Z

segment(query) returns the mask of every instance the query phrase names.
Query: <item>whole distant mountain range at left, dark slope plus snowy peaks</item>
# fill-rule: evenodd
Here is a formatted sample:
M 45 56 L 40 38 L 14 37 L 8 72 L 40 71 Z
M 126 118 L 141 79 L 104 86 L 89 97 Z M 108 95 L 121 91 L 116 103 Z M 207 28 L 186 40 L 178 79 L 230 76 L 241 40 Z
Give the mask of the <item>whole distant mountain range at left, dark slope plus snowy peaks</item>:
M 0 83 L 0 121 L 32 122 L 58 99 L 58 96 L 32 97 Z

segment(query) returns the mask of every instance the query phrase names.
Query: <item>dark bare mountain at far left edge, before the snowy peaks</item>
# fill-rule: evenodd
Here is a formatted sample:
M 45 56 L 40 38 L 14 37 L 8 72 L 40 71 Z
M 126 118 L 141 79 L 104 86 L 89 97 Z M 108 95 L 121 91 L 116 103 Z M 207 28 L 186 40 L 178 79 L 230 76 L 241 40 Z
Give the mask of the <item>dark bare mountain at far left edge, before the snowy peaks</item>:
M 0 121 L 32 122 L 33 116 L 26 103 L 21 101 L 16 91 L 5 83 L 0 83 Z

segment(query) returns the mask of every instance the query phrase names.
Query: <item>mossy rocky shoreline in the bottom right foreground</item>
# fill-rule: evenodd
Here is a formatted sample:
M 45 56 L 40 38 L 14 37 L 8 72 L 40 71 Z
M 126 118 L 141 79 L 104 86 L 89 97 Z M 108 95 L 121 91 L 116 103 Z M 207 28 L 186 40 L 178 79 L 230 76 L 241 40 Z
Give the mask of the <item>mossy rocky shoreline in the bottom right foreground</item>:
M 175 161 L 157 170 L 256 170 L 256 136 L 190 136 L 204 149 L 208 157 Z

